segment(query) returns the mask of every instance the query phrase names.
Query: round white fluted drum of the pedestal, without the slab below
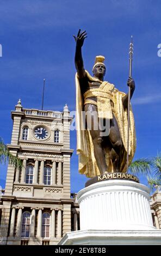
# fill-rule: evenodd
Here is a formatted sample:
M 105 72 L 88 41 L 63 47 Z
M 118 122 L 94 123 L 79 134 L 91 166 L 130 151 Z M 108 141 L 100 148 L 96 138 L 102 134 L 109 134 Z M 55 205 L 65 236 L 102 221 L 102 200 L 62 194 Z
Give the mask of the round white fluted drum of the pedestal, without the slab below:
M 134 181 L 101 181 L 80 190 L 80 230 L 154 229 L 148 188 Z

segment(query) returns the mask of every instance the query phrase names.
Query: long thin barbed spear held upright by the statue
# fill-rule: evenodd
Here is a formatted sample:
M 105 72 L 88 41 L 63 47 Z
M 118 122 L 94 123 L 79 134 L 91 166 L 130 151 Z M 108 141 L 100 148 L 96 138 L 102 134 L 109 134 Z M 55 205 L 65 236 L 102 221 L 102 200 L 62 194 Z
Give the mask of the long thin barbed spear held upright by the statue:
M 132 61 L 133 61 L 133 36 L 131 37 L 131 43 L 129 44 L 129 77 L 132 76 Z M 128 108 L 127 108 L 127 172 L 128 172 L 128 151 L 129 151 L 129 109 L 131 99 L 131 88 L 128 88 Z

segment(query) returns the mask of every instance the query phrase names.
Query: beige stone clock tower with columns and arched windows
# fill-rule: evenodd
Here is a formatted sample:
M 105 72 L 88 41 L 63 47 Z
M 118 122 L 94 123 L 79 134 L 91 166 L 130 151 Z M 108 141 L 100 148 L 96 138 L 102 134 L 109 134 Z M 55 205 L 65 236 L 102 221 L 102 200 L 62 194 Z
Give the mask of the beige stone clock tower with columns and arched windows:
M 27 109 L 19 100 L 11 116 L 8 148 L 23 167 L 8 165 L 2 196 L 3 244 L 57 245 L 71 231 L 69 109 Z

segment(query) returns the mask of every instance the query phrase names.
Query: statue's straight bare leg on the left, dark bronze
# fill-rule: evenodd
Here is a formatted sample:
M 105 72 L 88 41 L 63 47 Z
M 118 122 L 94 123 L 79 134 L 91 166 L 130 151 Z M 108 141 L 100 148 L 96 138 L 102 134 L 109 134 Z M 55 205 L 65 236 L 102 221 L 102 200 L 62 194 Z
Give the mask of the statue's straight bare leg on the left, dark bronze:
M 88 113 L 88 115 L 86 115 L 86 125 L 87 129 L 90 130 L 90 135 L 94 143 L 94 155 L 97 162 L 97 166 L 100 170 L 100 173 L 103 174 L 104 172 L 107 172 L 107 164 L 104 149 L 102 147 L 103 138 L 101 136 L 101 130 L 98 126 L 98 123 L 95 123 L 96 119 L 98 121 L 97 106 L 92 104 L 86 104 L 84 108 L 85 113 Z

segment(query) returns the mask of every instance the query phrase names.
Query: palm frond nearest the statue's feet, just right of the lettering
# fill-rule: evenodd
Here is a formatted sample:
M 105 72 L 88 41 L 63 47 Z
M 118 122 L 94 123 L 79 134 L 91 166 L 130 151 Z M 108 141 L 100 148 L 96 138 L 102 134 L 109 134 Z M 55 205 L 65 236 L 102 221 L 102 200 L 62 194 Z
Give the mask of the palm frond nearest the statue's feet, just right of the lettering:
M 129 170 L 133 174 L 149 174 L 151 167 L 151 161 L 148 159 L 138 159 L 131 163 Z

